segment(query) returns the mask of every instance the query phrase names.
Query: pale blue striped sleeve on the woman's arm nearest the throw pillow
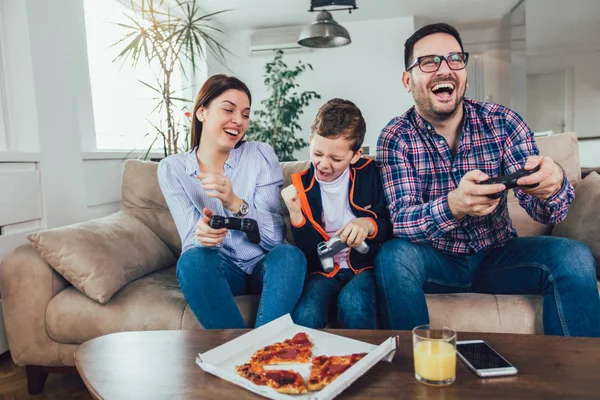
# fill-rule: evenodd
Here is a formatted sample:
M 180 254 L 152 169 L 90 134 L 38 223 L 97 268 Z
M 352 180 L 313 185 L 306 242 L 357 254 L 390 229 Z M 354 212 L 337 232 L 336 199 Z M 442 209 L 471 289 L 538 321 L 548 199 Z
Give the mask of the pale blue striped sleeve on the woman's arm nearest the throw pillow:
M 194 244 L 202 246 L 195 238 L 196 222 L 201 217 L 200 211 L 198 211 L 190 200 L 181 184 L 180 178 L 169 165 L 168 158 L 165 158 L 158 164 L 157 174 L 158 184 L 175 221 L 182 246 L 185 247 L 185 244 L 192 239 Z

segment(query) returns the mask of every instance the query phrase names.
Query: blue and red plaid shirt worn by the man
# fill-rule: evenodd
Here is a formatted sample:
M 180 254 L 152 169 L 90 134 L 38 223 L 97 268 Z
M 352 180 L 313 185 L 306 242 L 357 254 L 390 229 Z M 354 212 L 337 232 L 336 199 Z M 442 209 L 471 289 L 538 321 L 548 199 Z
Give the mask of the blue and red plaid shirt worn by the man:
M 452 254 L 475 254 L 517 236 L 508 215 L 507 194 L 490 214 L 454 218 L 448 193 L 467 172 L 479 169 L 491 177 L 521 169 L 539 154 L 533 132 L 512 110 L 498 104 L 464 100 L 462 135 L 456 156 L 444 137 L 422 119 L 414 107 L 394 118 L 377 141 L 377 162 L 394 236 L 430 243 Z M 543 224 L 556 224 L 567 215 L 573 187 L 565 176 L 562 188 L 546 200 L 515 195 L 527 213 Z

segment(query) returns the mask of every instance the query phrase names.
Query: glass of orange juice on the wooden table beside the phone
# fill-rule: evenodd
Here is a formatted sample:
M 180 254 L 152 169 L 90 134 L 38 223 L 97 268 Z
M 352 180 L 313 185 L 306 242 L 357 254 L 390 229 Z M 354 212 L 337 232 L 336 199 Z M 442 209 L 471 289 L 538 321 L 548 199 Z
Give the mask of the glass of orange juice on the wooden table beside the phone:
M 413 329 L 415 377 L 428 385 L 449 385 L 456 379 L 456 332 L 420 325 Z

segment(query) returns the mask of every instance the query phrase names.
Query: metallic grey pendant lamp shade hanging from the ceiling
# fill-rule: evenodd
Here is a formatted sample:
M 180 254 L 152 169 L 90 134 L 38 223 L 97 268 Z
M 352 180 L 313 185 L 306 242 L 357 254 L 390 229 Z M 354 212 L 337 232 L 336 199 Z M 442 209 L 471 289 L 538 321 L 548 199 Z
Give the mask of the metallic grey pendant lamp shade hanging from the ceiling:
M 298 44 L 304 47 L 340 47 L 350 44 L 346 28 L 335 22 L 330 12 L 320 11 L 317 20 L 300 33 Z

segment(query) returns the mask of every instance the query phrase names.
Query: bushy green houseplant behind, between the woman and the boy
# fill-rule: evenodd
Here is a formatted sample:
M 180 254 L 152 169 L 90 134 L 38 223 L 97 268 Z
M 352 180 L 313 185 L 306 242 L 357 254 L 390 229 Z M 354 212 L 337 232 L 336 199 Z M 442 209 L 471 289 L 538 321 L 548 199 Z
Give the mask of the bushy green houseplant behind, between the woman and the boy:
M 269 143 L 280 161 L 295 161 L 294 151 L 308 145 L 306 140 L 296 137 L 302 128 L 298 124 L 300 115 L 312 99 L 321 96 L 314 91 L 298 92 L 296 78 L 312 70 L 310 64 L 301 61 L 289 68 L 283 62 L 283 51 L 278 50 L 275 59 L 265 66 L 265 86 L 269 97 L 262 100 L 262 109 L 255 111 L 246 133 L 248 140 Z

